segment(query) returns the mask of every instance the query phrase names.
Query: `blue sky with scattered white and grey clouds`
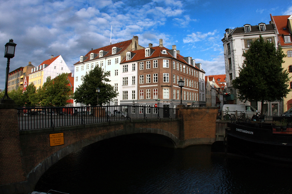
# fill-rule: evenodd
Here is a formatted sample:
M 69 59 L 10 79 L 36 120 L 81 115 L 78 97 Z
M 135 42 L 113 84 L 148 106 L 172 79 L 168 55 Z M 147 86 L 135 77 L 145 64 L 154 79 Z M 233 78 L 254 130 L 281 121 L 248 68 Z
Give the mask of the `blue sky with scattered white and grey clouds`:
M 73 64 L 91 49 L 138 36 L 142 47 L 158 46 L 159 39 L 168 49 L 176 45 L 206 75 L 216 75 L 225 74 L 225 29 L 269 24 L 270 14 L 291 15 L 292 1 L 0 0 L 0 89 L 9 39 L 17 44 L 9 72 L 61 55 L 74 75 Z

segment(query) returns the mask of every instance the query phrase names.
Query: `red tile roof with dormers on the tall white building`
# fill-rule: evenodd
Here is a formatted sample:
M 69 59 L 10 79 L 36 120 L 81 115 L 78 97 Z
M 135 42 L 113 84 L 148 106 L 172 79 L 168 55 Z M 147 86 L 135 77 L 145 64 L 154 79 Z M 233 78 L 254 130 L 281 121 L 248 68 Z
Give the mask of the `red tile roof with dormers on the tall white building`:
M 114 56 L 114 55 L 119 55 L 121 52 L 123 52 L 126 48 L 128 48 L 128 46 L 130 46 L 132 44 L 132 40 L 126 40 L 126 41 L 123 41 L 123 42 L 118 42 L 118 43 L 115 43 L 113 45 L 107 45 L 105 47 L 101 47 L 99 49 L 94 49 L 92 51 L 89 51 L 85 56 L 88 57 L 86 60 L 83 60 L 83 62 L 86 62 L 86 61 L 89 61 L 89 60 L 93 60 L 93 59 L 90 59 L 90 54 L 91 53 L 95 53 L 95 54 L 99 54 L 99 51 L 107 51 L 108 53 L 103 55 L 101 58 L 105 58 L 105 57 L 109 57 L 109 56 Z M 121 50 L 119 52 L 117 52 L 116 54 L 112 54 L 112 48 L 113 47 L 118 47 L 120 48 Z M 97 59 L 99 58 L 99 56 L 95 57 L 94 59 Z M 80 63 L 80 61 L 78 61 L 77 63 L 75 63 L 74 65 Z

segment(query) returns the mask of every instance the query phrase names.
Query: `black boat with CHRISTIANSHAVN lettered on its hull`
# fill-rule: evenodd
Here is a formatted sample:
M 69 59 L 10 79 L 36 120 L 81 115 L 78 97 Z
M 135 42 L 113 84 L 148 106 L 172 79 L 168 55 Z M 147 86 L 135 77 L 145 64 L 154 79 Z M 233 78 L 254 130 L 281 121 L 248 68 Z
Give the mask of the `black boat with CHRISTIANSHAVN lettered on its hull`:
M 283 120 L 290 124 L 280 129 L 273 124 Z M 212 150 L 272 163 L 292 164 L 292 117 L 273 117 L 273 123 L 229 122 L 224 143 L 214 142 Z M 219 149 L 217 145 L 224 145 L 224 149 Z

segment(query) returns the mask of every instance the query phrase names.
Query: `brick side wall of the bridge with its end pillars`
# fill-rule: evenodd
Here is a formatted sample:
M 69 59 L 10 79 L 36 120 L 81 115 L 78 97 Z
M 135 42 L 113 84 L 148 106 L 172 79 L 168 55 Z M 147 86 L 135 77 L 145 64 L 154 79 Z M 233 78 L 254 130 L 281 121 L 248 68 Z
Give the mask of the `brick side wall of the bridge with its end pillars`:
M 41 175 L 55 162 L 107 138 L 153 133 L 170 138 L 177 148 L 211 144 L 215 141 L 217 110 L 185 107 L 172 120 L 125 120 L 19 131 L 16 108 L 0 104 L 0 194 L 33 191 Z M 64 145 L 50 147 L 49 134 L 60 132 L 64 133 Z

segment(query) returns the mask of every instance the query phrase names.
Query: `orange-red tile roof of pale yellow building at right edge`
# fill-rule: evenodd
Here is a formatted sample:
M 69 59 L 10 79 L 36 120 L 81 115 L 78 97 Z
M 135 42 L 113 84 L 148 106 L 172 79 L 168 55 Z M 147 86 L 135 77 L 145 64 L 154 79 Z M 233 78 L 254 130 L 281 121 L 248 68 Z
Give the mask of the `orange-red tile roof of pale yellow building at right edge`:
M 291 35 L 289 29 L 287 27 L 288 18 L 290 15 L 278 15 L 278 16 L 271 16 L 271 20 L 274 22 L 277 32 L 278 32 L 278 41 L 279 45 L 281 46 L 291 46 L 291 43 L 285 43 L 283 35 Z M 285 30 L 284 30 L 285 29 Z

